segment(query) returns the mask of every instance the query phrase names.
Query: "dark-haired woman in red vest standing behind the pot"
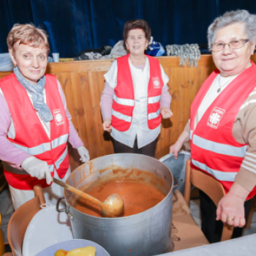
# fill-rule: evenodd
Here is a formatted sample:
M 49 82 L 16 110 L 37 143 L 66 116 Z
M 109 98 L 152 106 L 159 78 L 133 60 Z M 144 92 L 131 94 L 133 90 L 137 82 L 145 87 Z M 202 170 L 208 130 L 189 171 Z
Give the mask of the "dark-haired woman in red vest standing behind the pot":
M 127 21 L 123 36 L 129 54 L 113 61 L 104 75 L 103 129 L 111 132 L 115 153 L 154 157 L 162 117 L 173 116 L 169 78 L 157 59 L 144 55 L 151 38 L 145 20 Z

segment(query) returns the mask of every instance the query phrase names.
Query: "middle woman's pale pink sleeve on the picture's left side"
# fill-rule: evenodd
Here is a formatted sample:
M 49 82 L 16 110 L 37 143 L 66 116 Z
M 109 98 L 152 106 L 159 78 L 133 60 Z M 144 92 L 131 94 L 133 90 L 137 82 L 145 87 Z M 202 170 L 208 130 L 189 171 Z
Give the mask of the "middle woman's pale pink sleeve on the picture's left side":
M 103 121 L 105 121 L 106 118 L 112 117 L 113 94 L 114 90 L 108 85 L 107 82 L 105 82 L 102 97 L 100 98 L 100 109 L 102 110 Z

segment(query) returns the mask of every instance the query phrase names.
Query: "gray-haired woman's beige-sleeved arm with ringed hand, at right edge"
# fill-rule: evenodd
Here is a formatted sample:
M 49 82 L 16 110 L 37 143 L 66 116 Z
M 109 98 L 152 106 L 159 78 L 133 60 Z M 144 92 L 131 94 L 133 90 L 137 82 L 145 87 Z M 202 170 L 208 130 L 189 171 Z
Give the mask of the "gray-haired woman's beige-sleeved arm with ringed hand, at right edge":
M 256 91 L 253 91 L 256 92 Z M 253 92 L 238 112 L 233 127 L 233 136 L 239 143 L 246 143 L 246 154 L 230 191 L 219 201 L 217 219 L 227 222 L 234 219 L 233 225 L 243 227 L 244 201 L 256 185 L 256 94 Z

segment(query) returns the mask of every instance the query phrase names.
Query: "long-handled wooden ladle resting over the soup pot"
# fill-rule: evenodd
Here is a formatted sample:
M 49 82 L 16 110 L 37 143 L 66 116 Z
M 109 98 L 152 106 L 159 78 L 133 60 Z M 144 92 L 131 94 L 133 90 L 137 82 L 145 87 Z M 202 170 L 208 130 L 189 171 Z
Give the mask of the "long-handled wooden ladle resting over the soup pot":
M 52 177 L 53 178 L 53 177 Z M 76 189 L 75 187 L 69 186 L 67 183 L 60 181 L 57 178 L 53 178 L 53 182 L 58 184 L 61 187 L 64 187 L 65 189 L 74 192 L 76 195 L 79 195 L 80 197 L 83 197 L 86 200 L 91 201 L 91 203 L 96 204 L 101 208 L 102 214 L 105 217 L 117 217 L 119 214 L 121 214 L 124 211 L 124 200 L 121 197 L 121 195 L 113 194 L 110 195 L 104 203 L 97 200 L 95 197 L 92 197 L 91 195 L 86 194 L 85 192 L 80 191 L 79 189 Z

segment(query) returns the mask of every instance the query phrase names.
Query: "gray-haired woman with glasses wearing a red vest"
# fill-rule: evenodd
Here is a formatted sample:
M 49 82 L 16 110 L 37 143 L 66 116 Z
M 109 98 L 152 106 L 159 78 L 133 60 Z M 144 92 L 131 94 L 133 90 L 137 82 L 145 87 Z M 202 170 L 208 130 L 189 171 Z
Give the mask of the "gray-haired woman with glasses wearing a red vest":
M 225 189 L 217 208 L 200 192 L 202 230 L 211 243 L 220 241 L 222 222 L 236 227 L 233 238 L 241 236 L 256 194 L 256 66 L 250 61 L 255 43 L 256 15 L 246 10 L 226 12 L 209 26 L 208 45 L 217 69 L 198 91 L 189 123 L 170 146 L 177 158 L 190 138 L 192 167 Z

